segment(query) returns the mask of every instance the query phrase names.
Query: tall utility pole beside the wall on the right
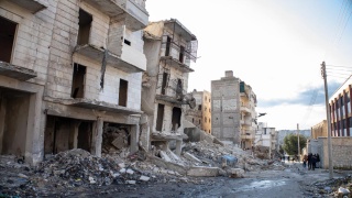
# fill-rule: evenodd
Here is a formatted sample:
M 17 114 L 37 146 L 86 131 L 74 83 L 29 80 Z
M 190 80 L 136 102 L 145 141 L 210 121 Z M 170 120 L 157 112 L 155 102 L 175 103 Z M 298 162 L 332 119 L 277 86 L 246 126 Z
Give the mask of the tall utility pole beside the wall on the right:
M 321 64 L 321 76 L 323 78 L 323 87 L 326 92 L 326 108 L 327 108 L 327 120 L 328 120 L 328 154 L 329 154 L 329 178 L 332 178 L 332 153 L 331 153 L 331 118 L 330 107 L 328 99 L 328 86 L 327 86 L 327 69 L 326 62 Z

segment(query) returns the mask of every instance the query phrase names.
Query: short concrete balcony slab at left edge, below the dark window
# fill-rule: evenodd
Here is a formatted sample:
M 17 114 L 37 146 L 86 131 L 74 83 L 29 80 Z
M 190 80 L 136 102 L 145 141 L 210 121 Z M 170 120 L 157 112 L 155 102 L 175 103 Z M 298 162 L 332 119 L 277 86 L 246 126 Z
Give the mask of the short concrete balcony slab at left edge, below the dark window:
M 36 73 L 32 69 L 15 66 L 4 62 L 0 62 L 0 75 L 22 81 L 36 77 Z

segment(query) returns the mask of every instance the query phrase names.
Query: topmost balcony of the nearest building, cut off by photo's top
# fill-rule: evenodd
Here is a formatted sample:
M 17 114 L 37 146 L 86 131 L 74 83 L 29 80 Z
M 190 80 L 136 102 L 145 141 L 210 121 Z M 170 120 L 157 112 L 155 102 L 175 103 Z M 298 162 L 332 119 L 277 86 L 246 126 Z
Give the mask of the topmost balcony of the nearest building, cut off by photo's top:
M 111 21 L 124 20 L 131 31 L 144 29 L 148 23 L 148 13 L 144 1 L 132 0 L 85 0 L 96 9 L 112 18 Z

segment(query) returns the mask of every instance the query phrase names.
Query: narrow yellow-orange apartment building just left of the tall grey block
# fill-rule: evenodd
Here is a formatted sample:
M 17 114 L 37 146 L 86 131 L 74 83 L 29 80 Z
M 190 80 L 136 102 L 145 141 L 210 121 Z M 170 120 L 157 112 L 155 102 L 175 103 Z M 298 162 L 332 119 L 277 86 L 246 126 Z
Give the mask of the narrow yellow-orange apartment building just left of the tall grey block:
M 186 119 L 200 130 L 211 133 L 211 95 L 209 91 L 194 91 L 196 107 L 187 108 Z

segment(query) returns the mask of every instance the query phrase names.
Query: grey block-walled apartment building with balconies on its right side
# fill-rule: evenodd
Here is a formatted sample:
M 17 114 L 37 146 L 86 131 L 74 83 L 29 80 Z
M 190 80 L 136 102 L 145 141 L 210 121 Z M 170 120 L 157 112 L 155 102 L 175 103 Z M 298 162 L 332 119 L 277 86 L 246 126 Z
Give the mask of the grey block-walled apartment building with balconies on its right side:
M 211 81 L 211 133 L 243 148 L 252 147 L 256 129 L 256 96 L 252 88 L 227 70 Z

